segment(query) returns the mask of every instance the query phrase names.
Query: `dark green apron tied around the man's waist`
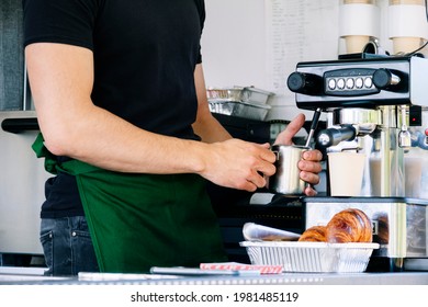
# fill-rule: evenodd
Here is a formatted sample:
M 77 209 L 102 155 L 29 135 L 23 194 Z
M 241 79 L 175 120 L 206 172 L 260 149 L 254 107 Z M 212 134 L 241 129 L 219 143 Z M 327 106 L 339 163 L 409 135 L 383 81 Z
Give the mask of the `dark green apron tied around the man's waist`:
M 227 261 L 201 177 L 121 173 L 78 160 L 59 164 L 42 135 L 33 149 L 47 171 L 76 177 L 101 272 Z

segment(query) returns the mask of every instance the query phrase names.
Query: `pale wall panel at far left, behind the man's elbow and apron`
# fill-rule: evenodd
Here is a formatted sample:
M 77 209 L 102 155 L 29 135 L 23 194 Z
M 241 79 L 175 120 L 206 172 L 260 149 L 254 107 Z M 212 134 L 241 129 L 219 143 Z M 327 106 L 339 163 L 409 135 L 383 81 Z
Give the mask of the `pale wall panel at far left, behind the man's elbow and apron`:
M 0 123 L 24 117 L 35 112 L 0 112 Z M 0 129 L 0 253 L 42 253 L 40 212 L 49 174 L 31 149 L 36 135 Z

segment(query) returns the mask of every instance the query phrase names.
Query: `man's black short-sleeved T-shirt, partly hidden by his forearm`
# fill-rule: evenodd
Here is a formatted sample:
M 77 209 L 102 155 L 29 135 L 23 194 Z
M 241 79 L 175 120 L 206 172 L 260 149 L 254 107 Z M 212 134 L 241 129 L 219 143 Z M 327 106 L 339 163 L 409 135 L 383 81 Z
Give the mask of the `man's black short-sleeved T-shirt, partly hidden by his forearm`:
M 49 42 L 93 52 L 95 105 L 149 132 L 199 139 L 191 124 L 203 0 L 23 0 L 23 5 L 25 46 Z M 74 177 L 46 182 L 42 217 L 81 214 Z

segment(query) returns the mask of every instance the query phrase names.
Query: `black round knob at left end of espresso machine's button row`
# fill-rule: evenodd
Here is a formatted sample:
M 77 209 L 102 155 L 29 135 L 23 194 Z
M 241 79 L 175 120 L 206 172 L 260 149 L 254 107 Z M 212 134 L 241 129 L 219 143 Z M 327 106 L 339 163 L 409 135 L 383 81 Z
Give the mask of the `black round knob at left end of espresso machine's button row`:
M 286 86 L 292 92 L 316 95 L 323 89 L 323 78 L 314 73 L 295 71 L 289 76 Z

